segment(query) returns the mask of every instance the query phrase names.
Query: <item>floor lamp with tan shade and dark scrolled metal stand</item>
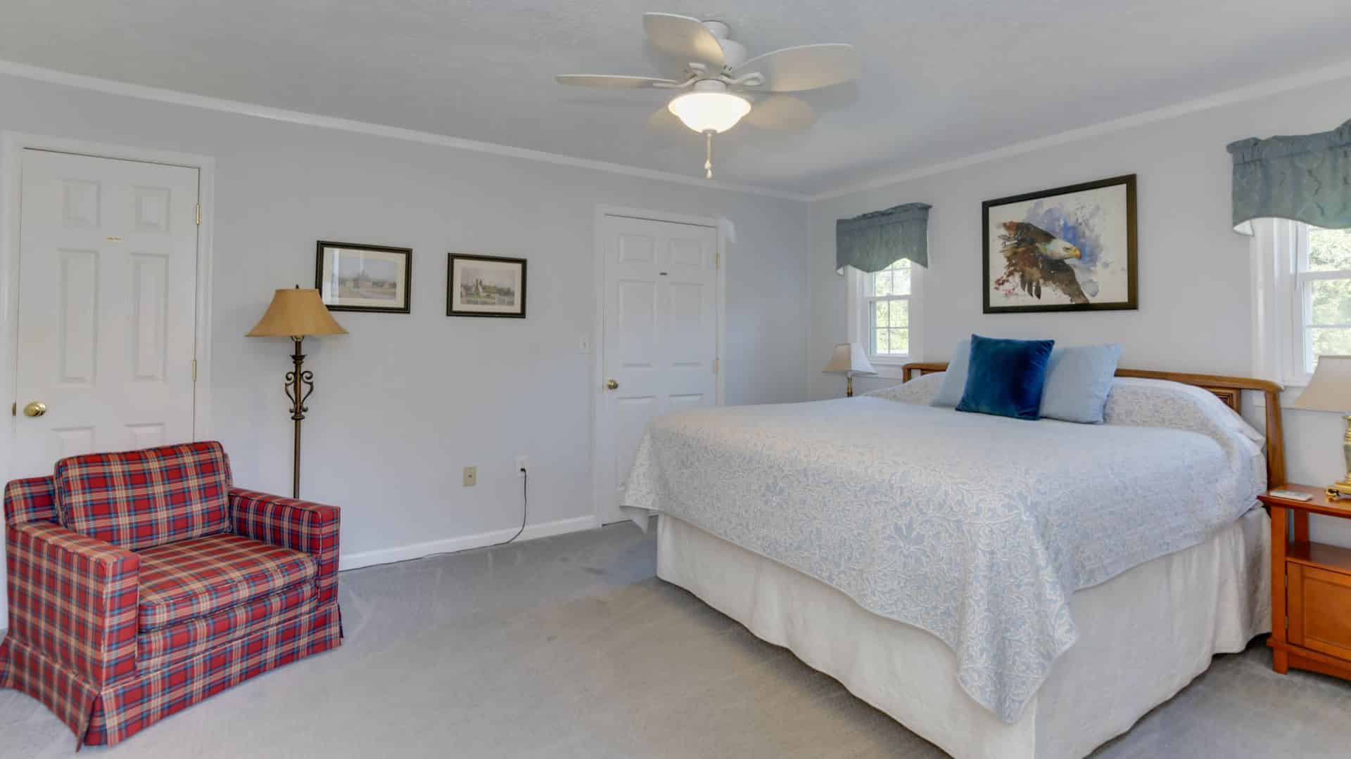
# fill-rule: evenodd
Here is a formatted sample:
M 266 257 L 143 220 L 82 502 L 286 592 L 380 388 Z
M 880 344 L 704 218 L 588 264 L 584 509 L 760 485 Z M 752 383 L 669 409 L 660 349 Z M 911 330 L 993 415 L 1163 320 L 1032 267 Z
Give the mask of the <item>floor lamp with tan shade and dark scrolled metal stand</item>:
M 305 355 L 300 343 L 316 335 L 346 335 L 347 331 L 334 321 L 328 307 L 319 298 L 319 290 L 280 289 L 272 296 L 272 304 L 249 331 L 249 338 L 290 338 L 296 352 L 290 354 L 296 367 L 286 373 L 286 397 L 290 398 L 290 419 L 296 423 L 295 459 L 292 463 L 290 496 L 300 497 L 300 423 L 305 419 L 305 401 L 315 392 L 315 373 L 304 369 Z

